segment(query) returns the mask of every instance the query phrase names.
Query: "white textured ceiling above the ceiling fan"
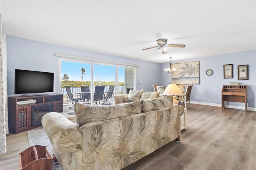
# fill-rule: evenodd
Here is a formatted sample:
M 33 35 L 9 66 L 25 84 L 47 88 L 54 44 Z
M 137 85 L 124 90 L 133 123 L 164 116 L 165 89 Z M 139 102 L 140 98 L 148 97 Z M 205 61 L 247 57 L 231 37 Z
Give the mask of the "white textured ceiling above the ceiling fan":
M 256 49 L 256 1 L 0 1 L 7 35 L 158 63 Z M 156 40 L 167 38 L 166 54 Z

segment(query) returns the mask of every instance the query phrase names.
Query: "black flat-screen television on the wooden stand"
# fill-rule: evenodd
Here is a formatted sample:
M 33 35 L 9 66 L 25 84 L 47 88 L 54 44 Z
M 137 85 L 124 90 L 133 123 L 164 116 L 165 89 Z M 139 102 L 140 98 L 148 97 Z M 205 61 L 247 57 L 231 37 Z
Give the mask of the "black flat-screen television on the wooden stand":
M 53 73 L 15 69 L 15 94 L 53 92 Z

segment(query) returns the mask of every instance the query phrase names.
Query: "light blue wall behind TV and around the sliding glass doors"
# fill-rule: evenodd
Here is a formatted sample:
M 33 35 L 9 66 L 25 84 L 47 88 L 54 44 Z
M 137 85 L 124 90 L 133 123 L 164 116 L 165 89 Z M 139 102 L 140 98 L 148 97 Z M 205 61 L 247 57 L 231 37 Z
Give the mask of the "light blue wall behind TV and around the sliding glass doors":
M 54 73 L 54 93 L 59 93 L 58 85 L 58 57 L 55 53 L 63 53 L 80 57 L 115 61 L 120 63 L 129 63 L 141 65 L 136 68 L 136 89 L 145 89 L 152 91 L 152 84 L 160 82 L 159 77 L 160 64 L 138 59 L 130 59 L 115 55 L 108 55 L 54 45 L 50 43 L 37 42 L 14 36 L 7 37 L 7 74 L 8 74 L 8 95 L 14 95 L 14 70 L 27 69 L 35 71 L 46 71 Z M 72 69 L 72 68 L 70 68 Z M 157 71 L 156 71 L 157 70 Z M 142 76 L 140 76 L 140 74 Z M 151 75 L 151 78 L 145 78 L 144 75 Z M 139 84 L 141 78 L 142 83 Z

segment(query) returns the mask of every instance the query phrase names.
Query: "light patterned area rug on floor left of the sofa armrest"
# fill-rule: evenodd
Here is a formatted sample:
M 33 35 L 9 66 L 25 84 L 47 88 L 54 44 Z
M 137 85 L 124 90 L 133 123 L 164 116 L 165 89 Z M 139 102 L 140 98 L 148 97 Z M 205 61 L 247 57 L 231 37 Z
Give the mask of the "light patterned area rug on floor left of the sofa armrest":
M 47 146 L 49 153 L 52 155 L 52 144 L 43 127 L 28 130 L 28 142 L 29 146 Z

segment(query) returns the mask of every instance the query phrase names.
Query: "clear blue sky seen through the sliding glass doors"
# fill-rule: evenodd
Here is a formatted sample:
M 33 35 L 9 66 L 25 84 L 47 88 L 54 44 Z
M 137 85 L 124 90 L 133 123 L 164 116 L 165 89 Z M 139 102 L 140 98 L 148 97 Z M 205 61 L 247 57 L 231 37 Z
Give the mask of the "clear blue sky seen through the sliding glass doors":
M 83 81 L 91 80 L 91 65 L 88 63 L 77 63 L 70 61 L 62 61 L 61 62 L 61 77 L 64 74 L 67 74 L 69 77 L 69 81 L 82 81 L 82 71 L 81 69 L 85 69 L 85 73 L 83 75 Z M 118 67 L 118 81 L 124 82 L 124 67 Z M 116 67 L 108 66 L 108 65 L 96 65 L 94 64 L 94 81 L 115 81 L 116 78 Z

